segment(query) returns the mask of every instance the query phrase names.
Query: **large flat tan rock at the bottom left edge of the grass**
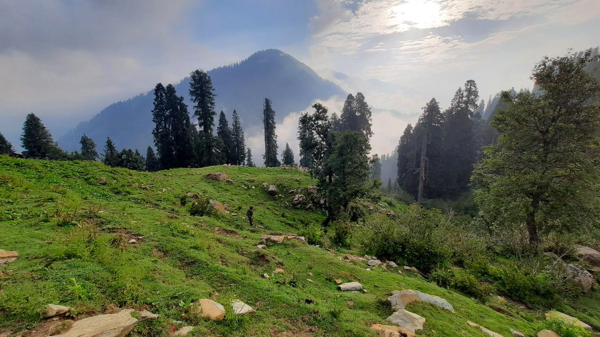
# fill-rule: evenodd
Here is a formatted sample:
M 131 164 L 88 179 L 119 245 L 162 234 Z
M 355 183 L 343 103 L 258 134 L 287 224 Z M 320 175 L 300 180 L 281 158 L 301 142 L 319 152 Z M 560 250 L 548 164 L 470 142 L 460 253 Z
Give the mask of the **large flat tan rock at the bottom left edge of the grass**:
M 125 309 L 118 314 L 83 318 L 56 337 L 124 337 L 137 323 L 137 318 L 131 317 L 131 312 L 133 309 Z

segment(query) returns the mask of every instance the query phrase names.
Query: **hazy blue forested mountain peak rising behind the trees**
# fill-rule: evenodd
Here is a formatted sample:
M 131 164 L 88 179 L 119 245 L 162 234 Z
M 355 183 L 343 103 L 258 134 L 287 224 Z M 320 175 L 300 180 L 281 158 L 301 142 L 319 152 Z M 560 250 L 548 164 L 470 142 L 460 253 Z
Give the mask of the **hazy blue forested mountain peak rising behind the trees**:
M 305 109 L 313 100 L 326 100 L 333 95 L 346 96 L 339 86 L 323 80 L 307 65 L 277 49 L 256 52 L 242 62 L 215 68 L 208 74 L 217 94 L 217 112 L 223 110 L 231 116 L 236 109 L 245 131 L 260 128 L 265 97 L 273 101 L 277 122 L 281 122 L 287 114 Z M 185 97 L 191 114 L 189 81 L 189 77 L 185 77 L 175 88 L 178 95 Z M 148 88 L 152 89 L 154 85 L 148 83 Z M 99 149 L 106 137 L 110 137 L 118 148 L 143 151 L 153 144 L 152 100 L 154 95 L 149 91 L 111 104 L 61 137 L 59 145 L 67 151 L 79 149 L 79 139 L 85 133 L 94 139 Z

